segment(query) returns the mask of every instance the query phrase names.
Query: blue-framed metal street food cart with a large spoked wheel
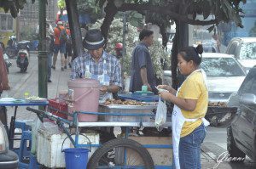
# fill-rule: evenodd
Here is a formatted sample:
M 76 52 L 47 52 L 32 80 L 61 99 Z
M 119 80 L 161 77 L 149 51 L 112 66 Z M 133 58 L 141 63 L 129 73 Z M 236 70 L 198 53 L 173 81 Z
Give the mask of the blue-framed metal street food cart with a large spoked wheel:
M 128 96 L 126 95 L 125 97 Z M 29 107 L 27 110 L 37 113 L 41 119 L 47 117 L 52 121 L 56 121 L 63 132 L 67 134 L 67 138 L 69 138 L 73 147 L 97 148 L 89 155 L 90 160 L 87 168 L 96 168 L 98 166 L 101 168 L 120 168 L 123 166 L 129 168 L 173 168 L 172 138 L 131 136 L 129 134 L 131 127 L 155 127 L 152 110 L 156 109 L 157 103 L 152 101 L 159 98 L 158 96 L 151 97 L 151 100 L 150 97 L 144 98 L 148 102 L 140 102 L 139 100 L 142 99 L 140 97 L 137 98 L 137 105 L 103 104 L 101 105 L 102 112 L 80 111 L 68 114 L 73 117 L 72 121 L 47 111 L 35 110 Z M 123 103 L 127 102 L 123 101 Z M 99 121 L 81 122 L 78 118 L 80 114 L 99 115 Z M 171 127 L 171 121 L 167 121 L 165 126 Z M 79 132 L 79 128 L 84 127 L 88 129 L 95 127 L 125 127 L 126 132 L 124 136 L 111 139 L 103 144 L 99 142 L 97 144 L 92 142 L 80 144 L 79 139 L 84 138 L 84 136 Z M 75 128 L 75 132 L 73 132 L 75 136 L 72 136 L 70 128 Z M 40 161 L 38 162 L 40 163 Z

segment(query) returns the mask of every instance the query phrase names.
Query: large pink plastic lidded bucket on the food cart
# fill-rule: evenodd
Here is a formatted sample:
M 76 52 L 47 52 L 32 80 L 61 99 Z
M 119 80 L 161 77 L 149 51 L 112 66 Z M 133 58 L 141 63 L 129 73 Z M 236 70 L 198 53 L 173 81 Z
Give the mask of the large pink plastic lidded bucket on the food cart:
M 73 89 L 73 107 L 68 112 L 97 112 L 100 97 L 100 84 L 94 79 L 74 79 L 67 82 L 68 89 Z M 98 115 L 79 114 L 79 121 L 97 121 Z

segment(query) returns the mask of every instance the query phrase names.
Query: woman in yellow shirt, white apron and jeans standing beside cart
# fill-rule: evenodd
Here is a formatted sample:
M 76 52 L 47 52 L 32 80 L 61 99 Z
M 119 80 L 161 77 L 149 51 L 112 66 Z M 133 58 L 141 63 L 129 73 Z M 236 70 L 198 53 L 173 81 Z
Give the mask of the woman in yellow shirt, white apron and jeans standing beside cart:
M 204 116 L 207 113 L 208 92 L 206 76 L 200 69 L 203 48 L 183 48 L 177 55 L 178 69 L 187 76 L 177 89 L 166 85 L 169 92 L 161 92 L 162 99 L 172 102 L 172 144 L 176 168 L 201 168 L 201 143 L 206 137 L 209 124 Z

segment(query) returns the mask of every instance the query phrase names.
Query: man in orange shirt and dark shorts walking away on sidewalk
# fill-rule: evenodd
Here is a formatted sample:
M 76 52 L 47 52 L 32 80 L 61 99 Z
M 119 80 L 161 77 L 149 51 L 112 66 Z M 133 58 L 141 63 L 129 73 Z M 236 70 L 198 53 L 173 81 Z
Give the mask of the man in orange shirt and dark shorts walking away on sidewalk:
M 55 65 L 57 61 L 57 56 L 59 54 L 59 51 L 61 53 L 61 70 L 64 70 L 64 62 L 65 57 L 64 54 L 66 53 L 66 42 L 60 41 L 61 37 L 61 30 L 65 29 L 63 26 L 62 21 L 58 21 L 57 26 L 55 27 L 54 33 L 55 33 L 55 49 L 54 49 L 54 58 L 53 58 L 53 65 L 51 68 L 55 70 Z

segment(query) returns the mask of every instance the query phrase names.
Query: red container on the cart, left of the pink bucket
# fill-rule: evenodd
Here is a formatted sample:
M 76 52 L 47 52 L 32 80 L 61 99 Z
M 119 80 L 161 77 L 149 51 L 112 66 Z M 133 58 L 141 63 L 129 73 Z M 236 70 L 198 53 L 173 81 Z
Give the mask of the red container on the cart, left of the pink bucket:
M 67 119 L 67 104 L 64 102 L 60 102 L 59 99 L 49 99 L 48 111 L 53 115 L 57 115 L 63 119 Z

